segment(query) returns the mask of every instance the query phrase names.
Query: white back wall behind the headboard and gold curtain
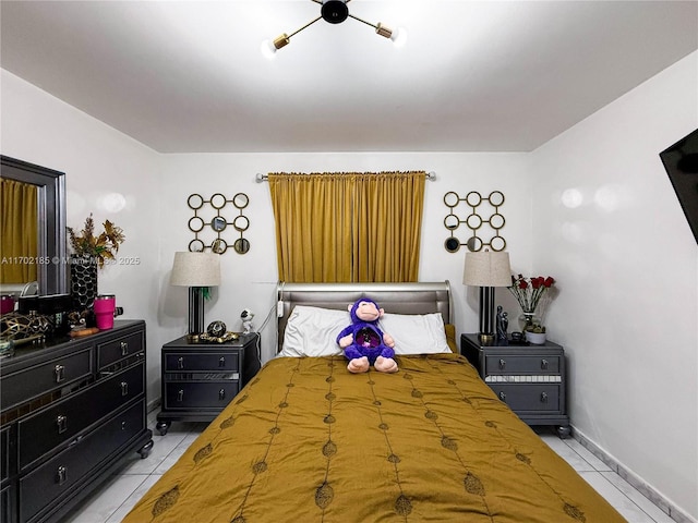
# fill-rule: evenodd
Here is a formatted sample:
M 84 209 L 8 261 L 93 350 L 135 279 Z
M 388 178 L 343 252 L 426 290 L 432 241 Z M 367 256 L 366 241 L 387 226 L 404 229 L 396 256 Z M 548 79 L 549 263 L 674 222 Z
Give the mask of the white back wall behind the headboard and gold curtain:
M 256 173 L 277 171 L 382 171 L 424 169 L 434 171 L 435 182 L 426 182 L 424 220 L 421 245 L 421 281 L 452 282 L 455 301 L 455 319 L 458 331 L 474 331 L 478 328 L 476 290 L 461 283 L 465 247 L 458 253 L 448 253 L 444 242 L 448 231 L 444 218 L 448 214 L 443 198 L 454 191 L 461 196 L 469 191 L 479 191 L 488 196 L 498 190 L 506 202 L 501 208 L 507 222 L 502 235 L 512 251 L 513 263 L 529 264 L 528 235 L 530 233 L 530 188 L 524 175 L 526 155 L 522 154 L 236 154 L 236 155 L 167 155 L 164 157 L 164 175 L 159 193 L 163 203 L 160 231 L 163 259 L 160 280 L 159 327 L 163 342 L 185 330 L 186 293 L 184 289 L 171 288 L 167 281 L 171 270 L 171 258 L 176 251 L 186 250 L 194 234 L 188 230 L 188 220 L 193 211 L 186 206 L 192 193 L 209 199 L 215 193 L 227 198 L 238 192 L 250 197 L 244 215 L 250 219 L 245 238 L 251 248 L 245 255 L 230 251 L 221 258 L 222 284 L 214 291 L 206 303 L 205 321 L 222 319 L 229 329 L 239 330 L 240 312 L 248 307 L 255 313 L 255 325 L 260 327 L 272 312 L 267 328 L 262 332 L 262 355 L 266 361 L 275 353 L 276 329 L 276 240 L 274 214 L 267 183 L 257 183 Z M 230 204 L 228 204 L 230 205 Z M 486 207 L 492 211 L 491 207 Z M 485 206 L 482 206 L 484 211 Z M 462 211 L 464 209 L 459 209 Z M 222 211 L 236 216 L 234 209 Z M 460 215 L 462 219 L 467 214 Z M 483 227 L 483 230 L 486 229 Z M 461 226 L 457 236 L 462 241 L 470 232 Z M 232 243 L 234 234 L 224 234 Z M 516 254 L 514 254 L 516 253 Z M 468 294 L 468 295 L 466 295 Z M 506 290 L 501 292 L 502 303 L 513 300 Z M 514 302 L 510 302 L 512 311 Z

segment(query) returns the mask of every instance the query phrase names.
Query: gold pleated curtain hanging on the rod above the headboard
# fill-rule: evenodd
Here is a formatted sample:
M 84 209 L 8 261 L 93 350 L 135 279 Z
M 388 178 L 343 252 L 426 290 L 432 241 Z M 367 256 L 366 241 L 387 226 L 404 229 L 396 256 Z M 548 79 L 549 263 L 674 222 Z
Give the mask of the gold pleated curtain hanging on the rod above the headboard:
M 417 281 L 426 173 L 269 173 L 279 280 Z

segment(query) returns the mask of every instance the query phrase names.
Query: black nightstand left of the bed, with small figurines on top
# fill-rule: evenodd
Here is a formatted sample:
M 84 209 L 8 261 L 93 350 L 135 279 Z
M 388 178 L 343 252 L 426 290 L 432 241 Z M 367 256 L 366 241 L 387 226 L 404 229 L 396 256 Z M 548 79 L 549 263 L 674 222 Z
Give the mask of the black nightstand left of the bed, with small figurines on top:
M 182 337 L 163 345 L 160 435 L 173 421 L 213 422 L 260 370 L 258 340 L 252 332 L 225 343 L 188 343 Z

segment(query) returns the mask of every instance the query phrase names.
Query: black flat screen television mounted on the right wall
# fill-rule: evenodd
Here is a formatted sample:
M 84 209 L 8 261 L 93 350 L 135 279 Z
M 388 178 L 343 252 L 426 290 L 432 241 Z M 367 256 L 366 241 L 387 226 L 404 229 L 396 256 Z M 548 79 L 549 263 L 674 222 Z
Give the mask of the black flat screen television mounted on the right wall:
M 659 156 L 698 243 L 698 129 Z

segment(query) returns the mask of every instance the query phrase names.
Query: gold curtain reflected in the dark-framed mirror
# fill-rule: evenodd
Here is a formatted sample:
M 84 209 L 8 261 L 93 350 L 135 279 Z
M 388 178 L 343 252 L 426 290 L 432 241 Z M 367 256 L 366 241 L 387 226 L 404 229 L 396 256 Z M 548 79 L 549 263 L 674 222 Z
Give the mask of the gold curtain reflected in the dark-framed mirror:
M 0 283 L 36 281 L 36 185 L 0 179 Z

